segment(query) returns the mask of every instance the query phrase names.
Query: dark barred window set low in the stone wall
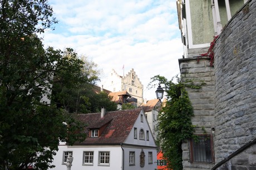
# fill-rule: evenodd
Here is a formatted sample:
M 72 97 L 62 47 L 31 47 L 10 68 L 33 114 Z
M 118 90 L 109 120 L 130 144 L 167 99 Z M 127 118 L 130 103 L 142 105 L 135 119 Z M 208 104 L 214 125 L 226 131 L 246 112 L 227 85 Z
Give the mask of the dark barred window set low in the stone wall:
M 190 140 L 191 162 L 214 162 L 213 136 L 198 135 Z

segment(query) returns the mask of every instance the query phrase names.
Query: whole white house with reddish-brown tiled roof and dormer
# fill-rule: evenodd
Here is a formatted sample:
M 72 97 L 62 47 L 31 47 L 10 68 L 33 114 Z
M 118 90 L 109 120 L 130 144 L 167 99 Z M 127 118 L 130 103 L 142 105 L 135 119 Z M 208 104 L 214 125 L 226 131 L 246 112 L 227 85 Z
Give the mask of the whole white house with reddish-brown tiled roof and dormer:
M 80 114 L 87 123 L 87 138 L 73 146 L 60 143 L 53 169 L 66 169 L 72 153 L 71 169 L 146 169 L 157 167 L 156 144 L 142 109 Z

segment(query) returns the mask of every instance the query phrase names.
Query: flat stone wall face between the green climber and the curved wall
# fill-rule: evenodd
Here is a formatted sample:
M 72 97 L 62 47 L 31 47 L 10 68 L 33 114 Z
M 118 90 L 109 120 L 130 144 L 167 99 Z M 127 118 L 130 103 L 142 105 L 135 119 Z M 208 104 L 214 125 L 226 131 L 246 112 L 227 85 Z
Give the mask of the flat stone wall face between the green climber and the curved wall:
M 188 88 L 189 99 L 194 107 L 193 125 L 196 125 L 195 133 L 203 134 L 206 130 L 211 133 L 214 123 L 214 69 L 209 66 L 209 58 L 201 58 L 199 62 L 196 58 L 179 59 L 181 80 L 193 80 L 196 84 L 205 83 L 201 89 Z M 183 169 L 210 169 L 214 163 L 190 163 L 189 142 L 184 141 L 183 149 Z

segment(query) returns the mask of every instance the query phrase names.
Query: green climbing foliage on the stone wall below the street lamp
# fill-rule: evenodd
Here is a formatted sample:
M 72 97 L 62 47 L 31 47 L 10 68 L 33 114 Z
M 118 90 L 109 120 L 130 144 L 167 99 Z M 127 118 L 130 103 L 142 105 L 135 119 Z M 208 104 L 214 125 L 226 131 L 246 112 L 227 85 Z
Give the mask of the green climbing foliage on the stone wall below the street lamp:
M 167 101 L 159 114 L 158 140 L 161 143 L 164 157 L 168 159 L 170 169 L 183 169 L 182 149 L 183 140 L 193 137 L 194 126 L 191 123 L 193 107 L 185 90 L 186 83 L 182 83 L 178 77 L 177 83 L 163 76 L 151 78 L 154 82 L 164 86 Z

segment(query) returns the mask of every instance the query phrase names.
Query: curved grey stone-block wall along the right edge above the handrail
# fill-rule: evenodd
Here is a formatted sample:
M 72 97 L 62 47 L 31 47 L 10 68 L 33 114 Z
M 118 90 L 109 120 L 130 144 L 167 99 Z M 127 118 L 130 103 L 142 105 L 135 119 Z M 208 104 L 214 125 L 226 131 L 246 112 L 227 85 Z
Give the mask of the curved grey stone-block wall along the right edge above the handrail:
M 215 48 L 216 163 L 256 138 L 256 0 L 229 21 Z

